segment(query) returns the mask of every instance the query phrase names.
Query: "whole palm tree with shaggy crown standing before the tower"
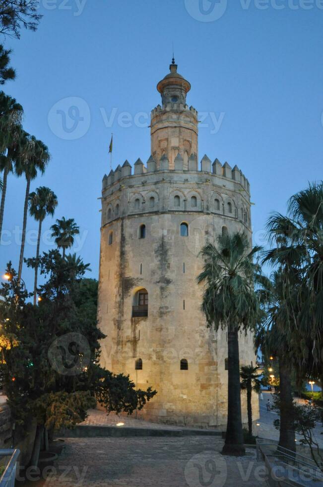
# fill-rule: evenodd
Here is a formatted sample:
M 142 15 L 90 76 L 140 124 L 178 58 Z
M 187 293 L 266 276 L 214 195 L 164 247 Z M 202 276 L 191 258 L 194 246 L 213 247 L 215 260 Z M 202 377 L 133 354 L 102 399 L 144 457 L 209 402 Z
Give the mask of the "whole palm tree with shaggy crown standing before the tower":
M 204 266 L 198 283 L 205 286 L 202 310 L 207 325 L 228 332 L 228 420 L 222 453 L 244 455 L 238 334 L 254 329 L 261 313 L 254 289 L 259 266 L 253 262 L 260 247 L 250 250 L 247 236 L 241 233 L 219 237 L 218 247 L 207 243 L 202 248 Z

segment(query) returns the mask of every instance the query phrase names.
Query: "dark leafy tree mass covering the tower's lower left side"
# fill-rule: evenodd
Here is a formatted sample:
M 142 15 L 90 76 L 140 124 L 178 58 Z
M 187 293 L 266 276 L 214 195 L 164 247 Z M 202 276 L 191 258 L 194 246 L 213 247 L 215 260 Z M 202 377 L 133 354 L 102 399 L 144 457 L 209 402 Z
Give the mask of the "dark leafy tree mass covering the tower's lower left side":
M 27 264 L 34 267 L 36 259 L 27 259 Z M 97 281 L 83 278 L 86 264 L 66 261 L 51 250 L 39 258 L 39 268 L 47 280 L 38 289 L 38 306 L 27 302 L 30 295 L 11 264 L 11 278 L 2 285 L 1 369 L 15 420 L 26 424 L 37 417 L 46 428 L 72 427 L 85 419 L 96 396 L 108 411 L 131 413 L 144 406 L 155 391 L 136 391 L 129 377 L 98 365 L 104 335 L 96 321 Z M 88 354 L 66 338 L 71 333 L 82 337 Z M 53 347 L 59 369 L 50 360 Z M 68 369 L 73 360 L 79 365 L 77 374 Z

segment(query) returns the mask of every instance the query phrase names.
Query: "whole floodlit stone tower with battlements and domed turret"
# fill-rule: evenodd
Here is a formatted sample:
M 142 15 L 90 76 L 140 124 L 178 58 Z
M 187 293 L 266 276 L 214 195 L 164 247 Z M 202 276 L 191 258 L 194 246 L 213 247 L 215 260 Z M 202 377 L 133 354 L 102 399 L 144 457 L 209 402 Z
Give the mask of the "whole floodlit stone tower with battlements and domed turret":
M 200 311 L 198 253 L 223 232 L 251 234 L 250 186 L 235 165 L 204 156 L 198 167 L 191 85 L 174 60 L 157 85 L 151 156 L 103 178 L 98 319 L 107 335 L 102 365 L 158 391 L 138 417 L 169 424 L 224 426 L 227 336 Z M 256 362 L 251 335 L 240 337 L 242 365 Z M 254 397 L 255 419 L 258 399 Z M 242 395 L 243 419 L 247 421 Z

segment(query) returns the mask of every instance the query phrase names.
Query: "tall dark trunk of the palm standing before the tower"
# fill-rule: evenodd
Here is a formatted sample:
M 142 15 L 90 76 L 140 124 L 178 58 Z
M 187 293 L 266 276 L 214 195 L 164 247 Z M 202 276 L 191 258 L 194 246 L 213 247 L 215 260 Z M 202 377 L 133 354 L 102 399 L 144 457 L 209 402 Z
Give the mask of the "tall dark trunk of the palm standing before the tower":
M 238 328 L 228 331 L 228 420 L 223 455 L 245 454 L 242 417 L 239 364 Z

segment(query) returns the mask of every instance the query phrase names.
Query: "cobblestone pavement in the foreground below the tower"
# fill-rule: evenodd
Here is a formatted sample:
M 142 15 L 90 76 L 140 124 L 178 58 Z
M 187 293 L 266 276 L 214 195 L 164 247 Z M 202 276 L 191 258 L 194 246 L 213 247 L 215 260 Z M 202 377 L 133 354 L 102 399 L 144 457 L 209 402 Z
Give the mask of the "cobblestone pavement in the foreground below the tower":
M 220 455 L 215 437 L 66 439 L 43 486 L 258 487 L 266 486 L 256 450 Z

